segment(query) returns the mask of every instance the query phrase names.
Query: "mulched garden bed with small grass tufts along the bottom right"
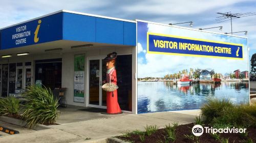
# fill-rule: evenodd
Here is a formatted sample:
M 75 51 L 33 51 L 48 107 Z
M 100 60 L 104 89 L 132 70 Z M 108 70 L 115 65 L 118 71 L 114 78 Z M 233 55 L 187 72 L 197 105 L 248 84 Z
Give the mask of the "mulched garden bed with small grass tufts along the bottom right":
M 201 136 L 196 137 L 191 133 L 194 123 L 179 125 L 174 130 L 175 138 L 172 140 L 169 138 L 169 134 L 164 129 L 157 129 L 155 133 L 147 135 L 145 132 L 133 131 L 130 133 L 124 133 L 122 136 L 117 136 L 117 138 L 130 141 L 130 142 L 246 142 L 251 139 L 251 141 L 256 142 L 256 128 L 247 128 L 247 135 L 241 133 L 219 133 L 219 137 L 214 136 L 210 133 L 203 133 Z M 143 139 L 144 134 L 144 139 Z M 187 135 L 187 136 L 185 136 Z M 143 141 L 142 141 L 143 140 Z

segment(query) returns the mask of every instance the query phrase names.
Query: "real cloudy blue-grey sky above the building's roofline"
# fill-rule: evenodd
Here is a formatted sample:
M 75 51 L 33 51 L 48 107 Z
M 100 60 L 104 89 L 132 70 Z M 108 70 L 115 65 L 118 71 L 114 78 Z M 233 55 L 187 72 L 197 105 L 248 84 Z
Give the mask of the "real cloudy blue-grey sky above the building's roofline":
M 141 19 L 160 23 L 176 23 L 193 21 L 193 28 L 209 28 L 223 26 L 223 31 L 210 29 L 209 31 L 229 33 L 230 21 L 217 23 L 217 12 L 246 13 L 256 12 L 256 1 L 250 0 L 218 0 L 218 1 L 186 1 L 186 0 L 146 0 L 146 1 L 48 1 L 0 0 L 0 28 L 18 22 L 39 17 L 61 9 L 98 14 L 103 16 Z M 250 55 L 256 53 L 256 15 L 233 19 L 233 32 L 248 31 Z M 187 24 L 179 25 L 189 27 Z M 244 33 L 236 35 L 245 36 Z

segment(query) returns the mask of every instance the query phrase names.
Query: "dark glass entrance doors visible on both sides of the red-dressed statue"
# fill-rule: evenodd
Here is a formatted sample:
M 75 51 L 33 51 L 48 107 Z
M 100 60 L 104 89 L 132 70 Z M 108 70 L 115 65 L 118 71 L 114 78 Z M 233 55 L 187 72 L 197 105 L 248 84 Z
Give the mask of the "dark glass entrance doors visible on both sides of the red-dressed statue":
M 102 81 L 106 79 L 104 57 L 89 58 L 89 106 L 106 108 L 106 91 Z M 122 110 L 132 111 L 132 55 L 118 55 L 116 60 L 118 103 Z

